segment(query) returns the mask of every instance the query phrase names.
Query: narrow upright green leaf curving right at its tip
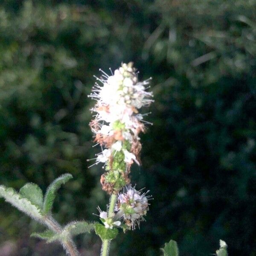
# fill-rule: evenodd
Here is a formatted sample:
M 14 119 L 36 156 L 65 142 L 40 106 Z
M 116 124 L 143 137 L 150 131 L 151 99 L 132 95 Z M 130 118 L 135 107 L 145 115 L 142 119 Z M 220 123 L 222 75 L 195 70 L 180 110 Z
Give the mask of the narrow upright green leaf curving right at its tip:
M 73 176 L 69 173 L 61 175 L 54 180 L 47 188 L 44 196 L 43 212 L 48 214 L 52 210 L 52 205 L 56 197 L 56 192 L 60 188 L 61 184 L 65 184 L 68 180 L 72 179 Z

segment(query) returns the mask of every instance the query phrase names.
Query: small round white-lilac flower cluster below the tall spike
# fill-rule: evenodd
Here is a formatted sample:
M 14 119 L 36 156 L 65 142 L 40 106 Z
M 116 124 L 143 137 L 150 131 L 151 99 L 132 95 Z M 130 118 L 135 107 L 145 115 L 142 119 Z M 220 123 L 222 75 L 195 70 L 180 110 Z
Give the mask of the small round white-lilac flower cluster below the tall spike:
M 120 216 L 125 224 L 135 229 L 135 226 L 140 225 L 140 221 L 144 221 L 143 215 L 146 215 L 148 211 L 148 200 L 150 195 L 146 195 L 149 190 L 142 194 L 131 185 L 125 186 L 123 193 L 118 195 L 118 202 L 115 207 L 117 216 Z

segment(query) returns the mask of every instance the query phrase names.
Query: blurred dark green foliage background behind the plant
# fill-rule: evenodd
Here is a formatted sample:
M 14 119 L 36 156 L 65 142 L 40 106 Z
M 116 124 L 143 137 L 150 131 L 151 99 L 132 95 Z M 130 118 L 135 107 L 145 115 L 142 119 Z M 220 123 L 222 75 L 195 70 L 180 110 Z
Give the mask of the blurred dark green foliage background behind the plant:
M 96 221 L 108 197 L 92 148 L 87 98 L 93 75 L 134 61 L 153 77 L 155 103 L 132 181 L 154 201 L 140 230 L 120 233 L 111 255 L 256 255 L 256 1 L 98 0 L 0 3 L 0 183 L 45 191 L 74 179 L 54 204 L 62 224 Z M 148 109 L 143 110 L 147 112 Z M 0 255 L 64 255 L 29 238 L 43 230 L 0 199 Z M 96 235 L 77 238 L 99 255 Z

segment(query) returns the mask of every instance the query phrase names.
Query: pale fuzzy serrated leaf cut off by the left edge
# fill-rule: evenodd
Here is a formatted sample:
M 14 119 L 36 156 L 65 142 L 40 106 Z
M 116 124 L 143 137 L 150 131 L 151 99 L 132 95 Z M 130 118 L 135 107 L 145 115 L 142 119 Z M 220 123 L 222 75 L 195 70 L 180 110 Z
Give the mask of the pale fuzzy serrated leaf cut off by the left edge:
M 13 188 L 6 188 L 0 185 L 0 197 L 5 198 L 6 202 L 12 204 L 21 212 L 26 213 L 37 221 L 43 221 L 43 214 L 37 204 L 33 204 L 28 198 L 24 198 Z

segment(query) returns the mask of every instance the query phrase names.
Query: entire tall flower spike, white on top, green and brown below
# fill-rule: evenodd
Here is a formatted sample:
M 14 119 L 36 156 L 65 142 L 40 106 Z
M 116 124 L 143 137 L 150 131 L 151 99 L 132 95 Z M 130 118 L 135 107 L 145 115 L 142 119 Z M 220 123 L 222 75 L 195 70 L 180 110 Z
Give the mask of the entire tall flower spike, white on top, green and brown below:
M 92 108 L 96 114 L 90 127 L 96 145 L 102 148 L 95 164 L 104 163 L 107 172 L 102 175 L 101 183 L 109 194 L 117 194 L 130 183 L 132 163 L 140 165 L 139 134 L 145 131 L 148 122 L 143 120 L 146 114 L 139 113 L 139 109 L 150 105 L 153 95 L 146 91 L 151 78 L 140 82 L 137 75 L 131 62 L 122 64 L 111 76 L 102 71 L 102 76 L 96 77 L 102 85 L 96 82 L 89 95 L 96 100 Z

